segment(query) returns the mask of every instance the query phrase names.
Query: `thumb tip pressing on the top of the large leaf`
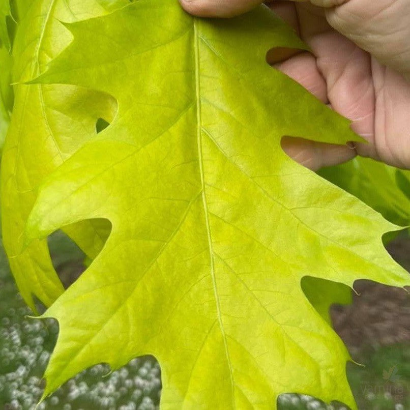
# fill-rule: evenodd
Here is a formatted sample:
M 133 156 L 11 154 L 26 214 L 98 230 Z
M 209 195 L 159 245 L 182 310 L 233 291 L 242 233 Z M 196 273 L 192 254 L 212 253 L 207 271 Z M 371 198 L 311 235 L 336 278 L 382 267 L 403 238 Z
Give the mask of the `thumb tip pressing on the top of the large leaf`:
M 180 0 L 185 11 L 200 17 L 233 17 L 261 4 L 260 0 Z

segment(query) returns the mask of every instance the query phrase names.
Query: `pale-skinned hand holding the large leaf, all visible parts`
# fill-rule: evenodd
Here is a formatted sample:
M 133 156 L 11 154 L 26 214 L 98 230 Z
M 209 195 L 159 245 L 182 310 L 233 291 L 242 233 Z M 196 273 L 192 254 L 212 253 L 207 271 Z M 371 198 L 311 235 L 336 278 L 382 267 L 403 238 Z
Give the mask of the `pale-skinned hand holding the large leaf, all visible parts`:
M 260 4 L 180 2 L 187 12 L 203 17 L 232 17 Z M 273 0 L 269 7 L 312 50 L 289 51 L 280 62 L 273 52 L 270 63 L 352 120 L 353 130 L 368 141 L 331 145 L 284 138 L 283 149 L 314 170 L 356 155 L 409 169 L 410 0 Z

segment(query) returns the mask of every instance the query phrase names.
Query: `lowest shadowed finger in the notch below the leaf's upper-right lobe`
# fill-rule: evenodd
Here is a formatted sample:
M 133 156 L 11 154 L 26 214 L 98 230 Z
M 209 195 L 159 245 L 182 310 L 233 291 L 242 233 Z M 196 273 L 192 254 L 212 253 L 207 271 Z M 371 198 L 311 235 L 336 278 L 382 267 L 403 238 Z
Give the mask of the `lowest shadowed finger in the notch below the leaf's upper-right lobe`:
M 356 151 L 347 145 L 325 144 L 294 137 L 282 138 L 282 149 L 289 157 L 313 171 L 342 164 L 356 156 Z

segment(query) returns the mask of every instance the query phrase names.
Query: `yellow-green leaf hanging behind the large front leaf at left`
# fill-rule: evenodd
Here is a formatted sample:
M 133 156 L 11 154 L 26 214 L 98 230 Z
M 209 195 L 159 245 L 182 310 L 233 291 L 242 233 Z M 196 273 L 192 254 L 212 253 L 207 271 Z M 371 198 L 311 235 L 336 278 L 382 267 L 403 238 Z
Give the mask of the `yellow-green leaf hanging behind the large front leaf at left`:
M 117 7 L 125 0 L 111 2 Z M 97 0 L 35 0 L 16 4 L 19 24 L 13 47 L 15 105 L 2 158 L 2 217 L 4 246 L 19 290 L 35 310 L 33 295 L 49 306 L 63 286 L 54 272 L 46 241 L 23 249 L 25 221 L 43 178 L 93 138 L 98 118 L 111 120 L 115 101 L 80 87 L 26 85 L 39 75 L 69 42 L 61 21 L 75 21 L 107 12 Z M 39 17 L 40 16 L 40 17 Z M 101 249 L 109 226 L 93 221 L 67 227 L 87 255 Z

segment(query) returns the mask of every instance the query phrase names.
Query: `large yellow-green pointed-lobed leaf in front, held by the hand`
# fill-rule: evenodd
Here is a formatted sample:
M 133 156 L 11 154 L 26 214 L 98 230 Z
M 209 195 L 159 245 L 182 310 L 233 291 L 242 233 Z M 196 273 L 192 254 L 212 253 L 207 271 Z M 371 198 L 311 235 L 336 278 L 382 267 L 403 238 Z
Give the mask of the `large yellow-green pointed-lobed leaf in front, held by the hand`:
M 174 0 L 69 28 L 36 81 L 112 95 L 118 114 L 47 179 L 26 235 L 94 218 L 112 231 L 44 315 L 60 323 L 45 394 L 95 363 L 153 354 L 164 409 L 272 409 L 284 392 L 354 408 L 349 355 L 301 280 L 403 286 L 408 274 L 381 241 L 397 226 L 281 150 L 283 135 L 358 139 L 266 64 L 300 40 L 263 6 L 200 20 Z

